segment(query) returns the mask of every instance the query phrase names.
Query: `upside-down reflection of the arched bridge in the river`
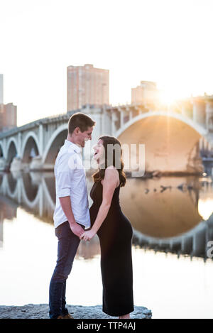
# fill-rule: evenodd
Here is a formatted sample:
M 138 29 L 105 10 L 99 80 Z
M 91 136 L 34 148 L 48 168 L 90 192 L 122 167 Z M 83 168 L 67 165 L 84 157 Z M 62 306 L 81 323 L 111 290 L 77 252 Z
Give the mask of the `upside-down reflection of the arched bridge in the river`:
M 88 176 L 88 194 L 92 184 Z M 133 246 L 207 259 L 207 242 L 213 240 L 212 178 L 129 178 L 120 193 L 121 207 L 133 226 Z M 1 244 L 4 219 L 16 217 L 18 207 L 53 224 L 54 174 L 0 174 Z M 80 243 L 77 256 L 93 258 L 99 253 L 95 236 Z

